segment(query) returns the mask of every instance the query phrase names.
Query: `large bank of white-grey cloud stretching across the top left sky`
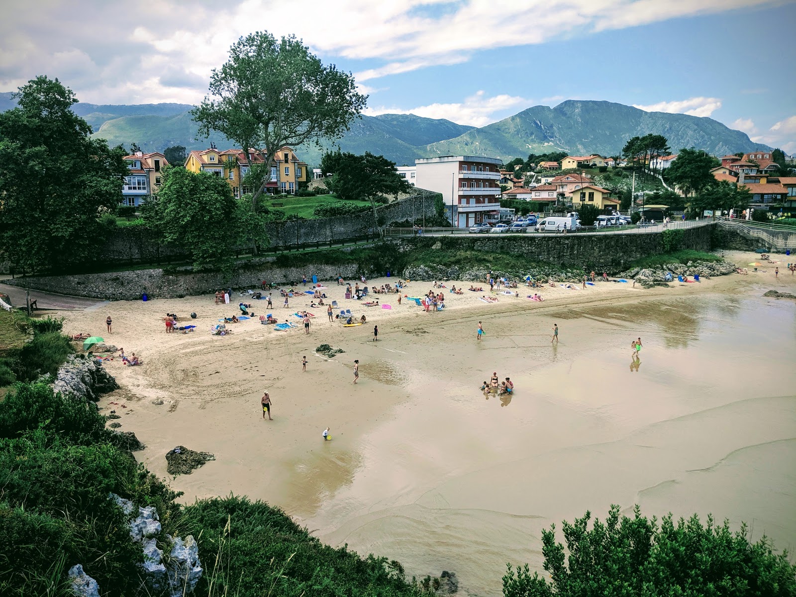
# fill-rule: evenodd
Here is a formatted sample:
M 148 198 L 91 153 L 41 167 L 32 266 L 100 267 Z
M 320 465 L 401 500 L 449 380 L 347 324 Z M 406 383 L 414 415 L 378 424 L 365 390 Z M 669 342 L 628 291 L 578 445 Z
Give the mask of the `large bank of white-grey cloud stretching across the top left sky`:
M 206 81 L 250 31 L 295 33 L 326 62 L 371 60 L 358 73 L 364 81 L 459 64 L 486 49 L 779 1 L 514 0 L 505 9 L 486 0 L 229 0 L 219 12 L 217 4 L 161 0 L 158 18 L 144 21 L 123 2 L 81 0 L 80 10 L 66 0 L 47 0 L 45 10 L 23 2 L 0 23 L 0 89 L 46 72 L 86 101 L 196 101 L 206 83 L 192 81 Z

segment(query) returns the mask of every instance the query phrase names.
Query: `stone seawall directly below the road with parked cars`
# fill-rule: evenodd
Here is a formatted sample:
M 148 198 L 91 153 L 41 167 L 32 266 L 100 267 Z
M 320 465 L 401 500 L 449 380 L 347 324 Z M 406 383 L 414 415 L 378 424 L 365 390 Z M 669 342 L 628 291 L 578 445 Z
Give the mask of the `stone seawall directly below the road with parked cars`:
M 412 236 L 397 241 L 402 250 L 444 248 L 462 251 L 509 253 L 529 261 L 563 267 L 588 267 L 621 271 L 635 259 L 665 253 L 665 240 L 676 242 L 672 249 L 710 251 L 714 225 L 666 232 L 611 232 L 610 234 L 556 234 L 545 236 L 469 235 Z M 671 235 L 671 233 L 674 233 Z M 682 232 L 680 234 L 679 232 Z M 488 257 L 485 256 L 485 260 Z

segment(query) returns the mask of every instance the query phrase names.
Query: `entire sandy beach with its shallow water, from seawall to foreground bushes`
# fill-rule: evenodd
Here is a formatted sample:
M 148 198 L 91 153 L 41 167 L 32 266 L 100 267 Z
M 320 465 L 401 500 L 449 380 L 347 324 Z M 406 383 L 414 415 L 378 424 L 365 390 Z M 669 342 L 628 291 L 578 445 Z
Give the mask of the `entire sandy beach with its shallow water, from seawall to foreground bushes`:
M 611 503 L 743 520 L 753 540 L 796 547 L 796 302 L 761 297 L 796 294 L 796 279 L 767 269 L 652 291 L 544 289 L 543 303 L 447 294 L 439 314 L 395 295 L 380 297 L 392 310 L 341 304 L 378 323 L 376 343 L 373 325 L 342 328 L 320 310 L 308 338 L 255 321 L 211 337 L 234 309 L 208 297 L 72 311 L 65 329 L 100 333 L 107 310 L 115 333 L 104 338 L 142 353 L 139 368 L 107 362 L 123 388 L 101 405 L 127 407 L 111 408 L 129 413 L 122 430 L 146 443 L 137 456 L 150 470 L 166 477 L 178 444 L 216 455 L 171 480 L 185 501 L 248 494 L 330 544 L 396 558 L 410 575 L 454 570 L 462 594 L 497 595 L 506 562 L 541 570 L 540 529 L 586 509 L 604 517 Z M 196 310 L 199 331 L 167 336 L 156 320 L 167 310 Z M 346 352 L 318 357 L 324 342 Z M 493 371 L 514 381 L 510 400 L 478 391 Z M 263 388 L 273 421 L 261 418 Z

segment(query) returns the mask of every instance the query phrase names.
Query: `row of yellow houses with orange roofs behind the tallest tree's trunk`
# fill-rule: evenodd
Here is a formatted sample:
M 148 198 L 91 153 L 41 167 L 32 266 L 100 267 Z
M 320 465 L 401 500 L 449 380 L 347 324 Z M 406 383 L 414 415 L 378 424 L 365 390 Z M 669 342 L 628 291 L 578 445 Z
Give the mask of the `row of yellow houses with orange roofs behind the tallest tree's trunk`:
M 262 164 L 266 154 L 259 150 L 228 149 L 224 151 L 211 148 L 209 150 L 193 150 L 185 160 L 185 170 L 189 172 L 209 172 L 224 178 L 232 187 L 235 197 L 251 193 L 242 185 L 242 181 L 250 164 Z M 265 185 L 267 193 L 295 193 L 299 182 L 307 180 L 307 166 L 300 162 L 290 147 L 283 147 L 275 156 L 275 165 L 271 166 L 271 180 Z

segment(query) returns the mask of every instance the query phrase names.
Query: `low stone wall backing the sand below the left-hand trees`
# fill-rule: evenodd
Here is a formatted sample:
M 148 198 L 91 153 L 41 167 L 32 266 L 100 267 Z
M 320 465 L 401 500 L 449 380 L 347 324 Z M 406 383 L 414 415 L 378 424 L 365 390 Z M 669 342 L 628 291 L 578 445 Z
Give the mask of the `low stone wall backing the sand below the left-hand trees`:
M 272 258 L 271 258 L 272 260 Z M 302 276 L 318 280 L 335 280 L 338 275 L 345 279 L 357 273 L 357 265 L 308 265 L 306 267 L 275 267 L 264 263 L 240 267 L 225 283 L 218 271 L 194 272 L 190 267 L 163 271 L 160 268 L 115 271 L 108 274 L 49 275 L 6 280 L 14 286 L 37 291 L 56 292 L 60 295 L 88 296 L 103 300 L 137 300 L 142 295 L 151 298 L 176 298 L 188 295 L 203 295 L 220 288 L 259 289 L 263 280 L 276 283 L 300 282 Z

